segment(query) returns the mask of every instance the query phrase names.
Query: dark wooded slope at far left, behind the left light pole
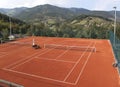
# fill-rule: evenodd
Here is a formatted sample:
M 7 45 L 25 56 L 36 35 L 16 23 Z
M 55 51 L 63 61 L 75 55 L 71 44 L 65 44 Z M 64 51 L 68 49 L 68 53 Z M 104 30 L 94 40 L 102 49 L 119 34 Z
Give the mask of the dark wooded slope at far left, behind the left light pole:
M 0 13 L 0 39 L 7 40 L 10 35 L 10 20 L 11 20 L 11 29 L 13 35 L 26 34 L 29 25 L 23 21 L 20 21 L 15 18 L 8 17 Z

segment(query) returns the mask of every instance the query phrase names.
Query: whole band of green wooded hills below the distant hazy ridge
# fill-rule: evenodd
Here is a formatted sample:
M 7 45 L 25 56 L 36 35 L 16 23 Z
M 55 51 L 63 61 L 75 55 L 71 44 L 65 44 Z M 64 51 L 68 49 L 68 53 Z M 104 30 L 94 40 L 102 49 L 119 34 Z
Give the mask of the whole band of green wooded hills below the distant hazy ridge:
M 12 20 L 12 33 L 19 35 L 36 35 L 50 37 L 99 38 L 109 37 L 109 31 L 114 29 L 114 22 L 107 18 L 92 15 L 80 15 L 65 21 L 48 19 L 46 22 L 26 24 L 18 19 Z M 0 37 L 9 36 L 9 17 L 0 15 Z M 117 35 L 120 24 L 117 23 Z

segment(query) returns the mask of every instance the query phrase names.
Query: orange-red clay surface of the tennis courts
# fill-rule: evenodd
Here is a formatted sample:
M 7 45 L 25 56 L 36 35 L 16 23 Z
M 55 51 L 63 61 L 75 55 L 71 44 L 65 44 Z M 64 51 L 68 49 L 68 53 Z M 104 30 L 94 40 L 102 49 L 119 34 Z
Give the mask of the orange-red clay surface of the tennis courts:
M 34 37 L 31 45 L 0 45 L 0 79 L 24 87 L 120 87 L 109 40 Z M 33 37 L 19 39 L 32 43 Z M 96 47 L 93 51 L 44 48 L 44 44 Z

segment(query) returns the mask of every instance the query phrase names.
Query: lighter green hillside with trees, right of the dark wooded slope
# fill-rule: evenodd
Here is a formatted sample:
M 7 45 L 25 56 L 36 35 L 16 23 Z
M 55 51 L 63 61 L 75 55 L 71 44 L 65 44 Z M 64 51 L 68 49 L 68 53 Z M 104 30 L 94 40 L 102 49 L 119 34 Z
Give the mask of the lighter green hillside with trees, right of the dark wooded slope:
M 45 23 L 34 24 L 33 29 L 37 36 L 106 39 L 109 37 L 109 31 L 114 29 L 113 23 L 113 21 L 99 16 L 80 15 L 64 22 L 49 19 Z M 120 30 L 119 28 L 118 23 L 117 31 Z

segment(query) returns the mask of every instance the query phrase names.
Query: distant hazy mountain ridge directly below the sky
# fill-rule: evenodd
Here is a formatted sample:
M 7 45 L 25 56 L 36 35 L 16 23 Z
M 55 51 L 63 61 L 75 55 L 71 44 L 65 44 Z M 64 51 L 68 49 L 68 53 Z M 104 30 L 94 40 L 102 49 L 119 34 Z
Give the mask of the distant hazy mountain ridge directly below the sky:
M 7 12 L 8 11 L 8 12 Z M 64 8 L 58 7 L 50 4 L 45 5 L 38 5 L 31 8 L 14 8 L 14 9 L 0 9 L 1 13 L 11 15 L 18 19 L 22 19 L 24 21 L 32 21 L 34 18 L 37 19 L 47 19 L 51 17 L 57 17 L 57 19 L 68 19 L 73 16 L 79 16 L 81 14 L 85 15 L 95 15 L 95 16 L 102 16 L 108 19 L 114 19 L 114 11 L 95 11 L 95 10 L 88 10 L 84 8 Z M 120 11 L 117 11 L 117 20 L 120 21 Z M 30 19 L 31 18 L 31 19 Z M 34 21 L 33 21 L 34 22 Z

